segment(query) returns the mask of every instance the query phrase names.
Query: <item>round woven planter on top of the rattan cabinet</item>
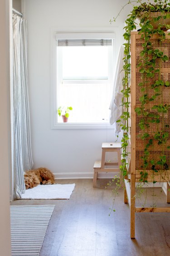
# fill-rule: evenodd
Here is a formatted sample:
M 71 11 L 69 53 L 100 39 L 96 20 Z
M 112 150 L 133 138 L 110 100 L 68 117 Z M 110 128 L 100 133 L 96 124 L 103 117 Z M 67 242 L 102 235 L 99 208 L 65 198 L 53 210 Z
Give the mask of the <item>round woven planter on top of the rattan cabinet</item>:
M 154 22 L 154 18 L 157 18 L 160 16 L 160 20 Z M 138 18 L 141 20 L 143 18 L 150 20 L 150 24 L 153 26 L 153 29 L 157 29 L 159 27 L 159 24 L 162 25 L 161 30 L 166 31 L 165 25 L 170 24 L 170 18 L 164 19 L 164 14 L 161 11 L 157 12 L 141 12 L 141 14 L 138 16 Z

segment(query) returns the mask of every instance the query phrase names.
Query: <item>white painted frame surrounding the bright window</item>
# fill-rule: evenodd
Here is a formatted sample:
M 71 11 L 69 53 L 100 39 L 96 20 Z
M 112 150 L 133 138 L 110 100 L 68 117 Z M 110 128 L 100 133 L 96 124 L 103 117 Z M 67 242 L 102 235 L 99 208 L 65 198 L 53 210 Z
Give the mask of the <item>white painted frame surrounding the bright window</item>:
M 106 122 L 94 122 L 94 123 L 58 123 L 57 113 L 57 47 L 56 39 L 107 39 L 112 38 L 113 40 L 113 63 L 115 62 L 115 33 L 113 31 L 54 31 L 52 32 L 52 51 L 51 51 L 51 66 L 53 67 L 51 77 L 51 128 L 52 129 L 112 129 L 109 120 Z M 94 81 L 93 81 L 94 82 Z

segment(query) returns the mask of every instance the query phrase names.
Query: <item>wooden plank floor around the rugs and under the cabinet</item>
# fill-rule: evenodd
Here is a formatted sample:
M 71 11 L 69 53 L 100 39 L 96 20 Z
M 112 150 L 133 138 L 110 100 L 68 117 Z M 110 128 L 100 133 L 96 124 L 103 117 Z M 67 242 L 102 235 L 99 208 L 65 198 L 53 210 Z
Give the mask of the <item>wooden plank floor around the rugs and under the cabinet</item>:
M 170 214 L 137 213 L 136 239 L 130 238 L 130 210 L 119 189 L 113 212 L 106 180 L 58 180 L 75 183 L 70 200 L 16 200 L 11 205 L 56 205 L 40 256 L 170 256 Z M 165 200 L 162 193 L 161 201 Z

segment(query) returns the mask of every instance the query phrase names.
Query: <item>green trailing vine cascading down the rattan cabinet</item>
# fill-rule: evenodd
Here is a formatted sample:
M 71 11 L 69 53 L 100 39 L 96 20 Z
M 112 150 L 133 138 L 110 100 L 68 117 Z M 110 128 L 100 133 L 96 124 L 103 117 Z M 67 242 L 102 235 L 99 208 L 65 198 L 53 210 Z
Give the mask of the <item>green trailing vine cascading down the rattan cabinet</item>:
M 140 88 L 140 97 L 138 101 L 140 104 L 135 108 L 136 115 L 139 117 L 139 129 L 140 133 L 138 138 L 144 143 L 144 150 L 141 168 L 141 178 L 140 182 L 147 184 L 148 173 L 147 169 L 153 171 L 153 183 L 154 174 L 158 172 L 166 175 L 166 170 L 169 169 L 169 164 L 166 159 L 165 149 L 170 149 L 170 145 L 167 142 L 170 138 L 169 132 L 169 120 L 166 120 L 166 115 L 170 109 L 170 104 L 163 103 L 162 88 L 170 87 L 170 78 L 164 78 L 161 75 L 162 63 L 169 60 L 169 56 L 166 55 L 163 47 L 160 47 L 165 40 L 165 31 L 170 29 L 170 25 L 167 20 L 170 19 L 170 2 L 167 0 L 155 0 L 154 3 L 142 2 L 142 0 L 128 1 L 126 5 L 134 4 L 133 10 L 130 15 L 127 16 L 126 26 L 124 27 L 125 33 L 123 37 L 125 39 L 124 43 L 124 78 L 122 80 L 122 108 L 123 113 L 120 120 L 120 127 L 123 131 L 123 137 L 121 139 L 122 146 L 122 164 L 121 171 L 124 176 L 127 175 L 128 169 L 128 141 L 130 134 L 129 118 L 130 118 L 130 76 L 131 76 L 131 31 L 136 30 L 136 19 L 140 19 L 139 26 L 140 30 L 138 33 L 141 35 L 141 52 L 140 58 L 137 61 L 137 68 L 141 76 L 140 82 L 138 84 Z M 126 6 L 124 5 L 122 9 Z M 122 10 L 121 9 L 121 10 Z M 157 15 L 150 17 L 150 13 L 156 12 Z M 121 11 L 118 13 L 116 18 L 110 20 L 110 22 L 116 21 L 117 17 L 120 15 Z M 155 26 L 156 25 L 156 26 Z M 155 49 L 152 45 L 151 37 L 153 35 L 159 36 L 159 47 Z M 168 34 L 170 35 L 170 33 Z M 151 82 L 152 81 L 152 82 Z M 153 92 L 152 94 L 150 92 Z M 157 103 L 158 99 L 161 103 Z M 162 101 L 161 101 L 162 99 Z M 170 100 L 170 96 L 169 96 Z M 170 102 L 170 101 L 169 101 Z M 150 105 L 152 107 L 150 108 Z M 163 125 L 160 126 L 160 122 L 163 121 Z M 151 125 L 154 124 L 155 131 L 151 134 L 148 132 Z M 159 159 L 151 159 L 150 153 L 153 151 L 154 143 L 161 146 L 161 152 Z

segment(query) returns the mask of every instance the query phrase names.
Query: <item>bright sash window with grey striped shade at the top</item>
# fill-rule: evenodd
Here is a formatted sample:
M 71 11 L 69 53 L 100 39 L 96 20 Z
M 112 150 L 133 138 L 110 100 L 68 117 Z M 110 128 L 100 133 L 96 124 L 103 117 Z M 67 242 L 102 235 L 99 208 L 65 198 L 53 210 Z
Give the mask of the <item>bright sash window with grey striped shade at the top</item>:
M 112 93 L 113 33 L 56 33 L 55 124 L 59 106 L 71 106 L 65 126 L 109 123 Z

